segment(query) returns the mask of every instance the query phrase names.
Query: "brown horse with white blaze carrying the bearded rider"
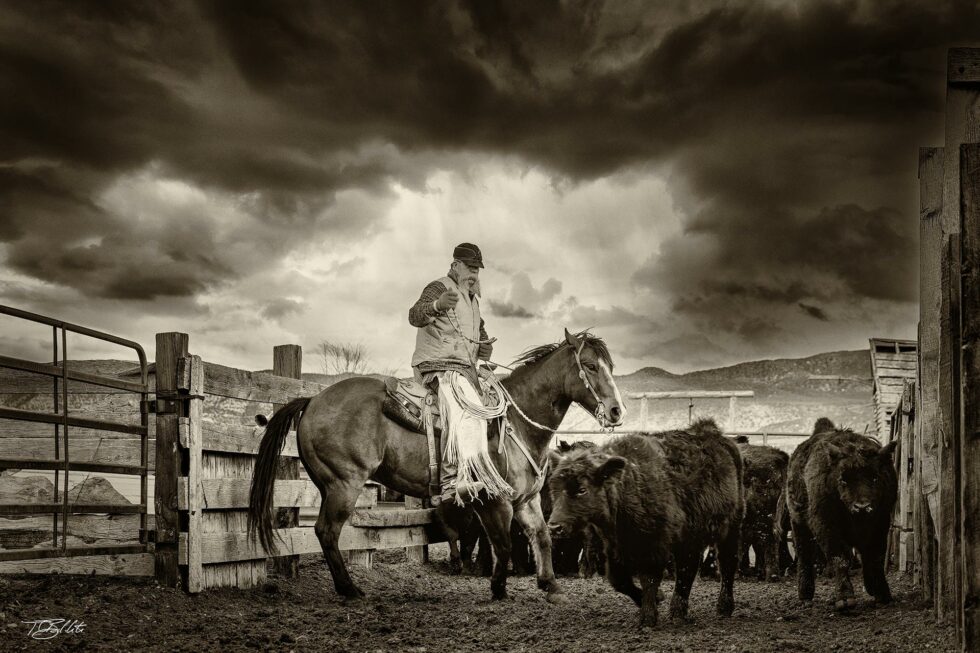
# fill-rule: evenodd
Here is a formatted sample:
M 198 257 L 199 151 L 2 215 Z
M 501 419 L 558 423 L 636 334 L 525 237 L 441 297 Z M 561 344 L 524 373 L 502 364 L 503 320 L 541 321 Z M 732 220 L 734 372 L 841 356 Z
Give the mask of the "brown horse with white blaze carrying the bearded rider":
M 604 427 L 622 423 L 625 407 L 612 368 L 609 350 L 600 338 L 585 332 L 572 335 L 566 330 L 564 341 L 525 352 L 516 361 L 513 373 L 502 379 L 513 400 L 507 417 L 514 436 L 539 469 L 548 457 L 554 430 L 573 402 L 595 415 Z M 294 399 L 269 421 L 252 478 L 249 531 L 253 535 L 257 532 L 266 551 L 275 553 L 273 484 L 279 452 L 295 420 L 300 459 L 320 490 L 317 538 L 334 587 L 346 598 L 364 594 L 351 580 L 337 540 L 364 483 L 371 479 L 410 496 L 427 496 L 426 438 L 385 417 L 381 413 L 384 397 L 381 381 L 354 377 L 315 397 Z M 541 484 L 514 439 L 505 436 L 503 450 L 498 453 L 498 437 L 491 437 L 490 452 L 514 494 L 496 500 L 487 500 L 484 495 L 480 497 L 482 501 L 474 502 L 494 552 L 490 583 L 493 598 L 507 596 L 510 525 L 516 517 L 532 543 L 538 587 L 548 592 L 549 599 L 557 599 L 561 590 L 551 566 L 551 536 L 538 494 Z

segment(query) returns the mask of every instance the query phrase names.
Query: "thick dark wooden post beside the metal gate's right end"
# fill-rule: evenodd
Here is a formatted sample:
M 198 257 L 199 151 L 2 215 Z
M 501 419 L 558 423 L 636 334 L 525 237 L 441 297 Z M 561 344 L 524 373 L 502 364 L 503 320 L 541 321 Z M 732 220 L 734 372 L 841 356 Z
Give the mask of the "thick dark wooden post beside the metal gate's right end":
M 186 333 L 158 333 L 156 336 L 156 471 L 154 508 L 156 516 L 157 581 L 166 587 L 180 586 L 177 512 L 177 476 L 181 468 L 180 426 L 182 410 L 177 397 L 178 361 L 187 356 Z

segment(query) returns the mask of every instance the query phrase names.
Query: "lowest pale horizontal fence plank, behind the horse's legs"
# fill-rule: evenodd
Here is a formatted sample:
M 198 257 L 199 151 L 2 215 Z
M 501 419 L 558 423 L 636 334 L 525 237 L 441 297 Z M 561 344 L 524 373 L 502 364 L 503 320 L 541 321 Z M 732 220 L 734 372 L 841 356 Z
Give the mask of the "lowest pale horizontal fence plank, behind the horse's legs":
M 312 528 L 283 528 L 275 531 L 279 543 L 278 555 L 320 553 L 320 541 Z M 340 532 L 341 551 L 364 549 L 394 549 L 445 542 L 442 529 L 435 525 L 403 528 L 361 528 L 347 524 Z M 179 564 L 187 564 L 187 533 L 180 534 Z M 213 564 L 237 560 L 257 560 L 268 557 L 257 541 L 247 533 L 204 533 L 201 535 L 201 562 Z

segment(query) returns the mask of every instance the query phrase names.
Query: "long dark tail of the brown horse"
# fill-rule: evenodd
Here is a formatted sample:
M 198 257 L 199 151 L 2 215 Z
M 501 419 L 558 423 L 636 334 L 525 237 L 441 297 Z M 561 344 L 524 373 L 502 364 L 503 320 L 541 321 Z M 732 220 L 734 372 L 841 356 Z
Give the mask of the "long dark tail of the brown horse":
M 300 413 L 310 404 L 310 397 L 293 399 L 276 411 L 269 420 L 259 444 L 259 455 L 252 474 L 252 488 L 248 493 L 248 534 L 254 539 L 258 533 L 262 547 L 275 554 L 278 546 L 272 532 L 272 497 L 276 484 L 279 454 L 286 444 L 289 427 L 293 420 L 299 425 Z

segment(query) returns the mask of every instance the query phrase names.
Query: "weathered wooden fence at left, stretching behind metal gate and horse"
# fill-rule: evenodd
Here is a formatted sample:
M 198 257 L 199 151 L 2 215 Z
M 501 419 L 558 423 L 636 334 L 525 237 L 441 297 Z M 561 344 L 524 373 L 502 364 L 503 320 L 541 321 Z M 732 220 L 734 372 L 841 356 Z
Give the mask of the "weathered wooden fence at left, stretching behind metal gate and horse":
M 207 363 L 188 344 L 185 334 L 158 334 L 148 375 L 113 361 L 0 357 L 0 573 L 155 575 L 198 592 L 255 586 L 270 567 L 295 576 L 300 554 L 320 553 L 310 519 L 320 494 L 301 470 L 295 432 L 277 473 L 282 543 L 271 565 L 247 536 L 246 508 L 264 433 L 255 416 L 326 386 L 298 378 L 295 345 L 274 349 L 268 374 Z M 426 545 L 445 541 L 434 511 L 412 497 L 380 502 L 382 489 L 362 492 L 341 532 L 344 555 L 370 566 L 375 550 L 405 547 L 410 560 L 426 560 Z

